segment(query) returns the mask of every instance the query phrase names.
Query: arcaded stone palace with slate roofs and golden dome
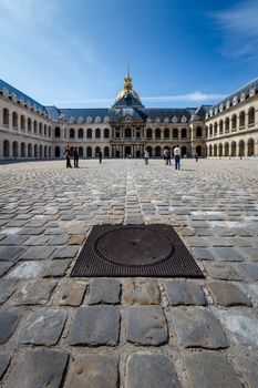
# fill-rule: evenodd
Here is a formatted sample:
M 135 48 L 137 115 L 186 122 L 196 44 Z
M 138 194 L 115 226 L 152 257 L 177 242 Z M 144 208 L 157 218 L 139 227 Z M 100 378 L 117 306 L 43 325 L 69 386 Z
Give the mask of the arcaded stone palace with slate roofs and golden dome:
M 80 157 L 182 155 L 258 156 L 258 79 L 215 105 L 148 109 L 130 73 L 109 109 L 44 106 L 0 80 L 0 159 L 62 159 L 66 145 Z

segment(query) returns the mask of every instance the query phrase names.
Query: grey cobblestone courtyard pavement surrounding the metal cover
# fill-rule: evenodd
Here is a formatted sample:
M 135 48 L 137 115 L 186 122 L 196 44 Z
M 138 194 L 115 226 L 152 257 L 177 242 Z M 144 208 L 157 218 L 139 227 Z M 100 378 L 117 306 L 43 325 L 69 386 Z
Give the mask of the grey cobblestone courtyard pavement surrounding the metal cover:
M 0 166 L 0 385 L 258 387 L 258 161 Z M 176 227 L 205 279 L 71 278 L 97 224 Z

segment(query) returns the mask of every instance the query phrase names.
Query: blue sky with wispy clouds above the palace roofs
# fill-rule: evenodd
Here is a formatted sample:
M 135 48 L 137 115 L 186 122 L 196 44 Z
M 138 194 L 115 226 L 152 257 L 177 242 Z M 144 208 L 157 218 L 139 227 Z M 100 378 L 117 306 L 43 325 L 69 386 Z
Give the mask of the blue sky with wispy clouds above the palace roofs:
M 0 0 L 0 78 L 42 104 L 198 106 L 258 76 L 258 1 Z

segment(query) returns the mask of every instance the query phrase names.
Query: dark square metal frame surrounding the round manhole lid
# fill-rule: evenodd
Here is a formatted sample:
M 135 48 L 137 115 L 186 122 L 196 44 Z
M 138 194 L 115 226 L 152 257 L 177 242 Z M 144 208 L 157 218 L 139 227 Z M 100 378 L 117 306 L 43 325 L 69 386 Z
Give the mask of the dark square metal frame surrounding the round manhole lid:
M 122 229 L 144 229 L 162 234 L 174 251 L 168 258 L 147 265 L 122 265 L 104 259 L 95 248 L 104 235 Z M 123 255 L 123 252 L 121 252 Z M 171 225 L 95 225 L 92 227 L 71 272 L 71 277 L 192 277 L 204 278 L 204 274 Z

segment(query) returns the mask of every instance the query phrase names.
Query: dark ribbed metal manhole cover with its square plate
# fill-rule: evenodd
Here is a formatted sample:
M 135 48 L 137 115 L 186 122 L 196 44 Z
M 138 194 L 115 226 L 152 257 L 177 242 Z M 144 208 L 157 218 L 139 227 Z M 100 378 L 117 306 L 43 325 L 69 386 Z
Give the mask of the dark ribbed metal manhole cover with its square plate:
M 93 226 L 71 276 L 204 277 L 173 226 Z

